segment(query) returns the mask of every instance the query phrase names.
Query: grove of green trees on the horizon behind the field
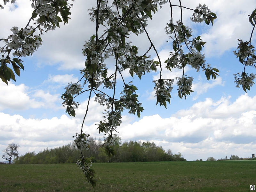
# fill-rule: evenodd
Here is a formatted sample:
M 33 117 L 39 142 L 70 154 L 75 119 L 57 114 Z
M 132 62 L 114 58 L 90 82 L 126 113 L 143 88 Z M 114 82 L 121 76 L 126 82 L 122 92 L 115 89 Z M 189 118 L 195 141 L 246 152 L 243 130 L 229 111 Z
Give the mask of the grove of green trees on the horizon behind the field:
M 110 158 L 105 153 L 104 142 L 89 137 L 90 149 L 83 151 L 84 156 L 90 157 L 93 163 L 107 162 L 145 162 L 145 161 L 186 161 L 180 153 L 173 154 L 170 149 L 164 150 L 161 146 L 156 146 L 154 142 L 125 141 L 122 143 L 120 137 L 115 137 L 113 145 L 116 155 Z M 14 164 L 57 164 L 76 163 L 80 158 L 80 151 L 74 144 L 53 149 L 44 149 L 39 153 L 28 152 L 13 160 Z

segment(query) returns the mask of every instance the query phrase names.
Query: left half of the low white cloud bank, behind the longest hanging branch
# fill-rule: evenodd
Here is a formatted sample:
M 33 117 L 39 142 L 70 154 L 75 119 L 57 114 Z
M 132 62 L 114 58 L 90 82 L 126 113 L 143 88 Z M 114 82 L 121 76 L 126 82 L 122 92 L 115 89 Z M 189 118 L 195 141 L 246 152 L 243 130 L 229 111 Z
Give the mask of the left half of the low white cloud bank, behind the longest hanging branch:
M 88 100 L 85 100 L 76 109 L 76 118 L 62 115 L 60 118 L 27 119 L 20 115 L 11 116 L 0 112 L 0 149 L 3 150 L 8 143 L 15 142 L 21 145 L 20 154 L 25 154 L 28 151 L 38 152 L 47 147 L 59 147 L 73 142 L 72 136 L 81 130 L 87 102 Z M 95 102 L 94 98 L 90 100 L 83 132 L 96 138 L 103 136 L 102 133 L 99 135 L 95 125 L 103 119 L 103 110 L 103 106 Z M 131 121 L 127 116 L 123 116 L 122 120 L 124 125 Z

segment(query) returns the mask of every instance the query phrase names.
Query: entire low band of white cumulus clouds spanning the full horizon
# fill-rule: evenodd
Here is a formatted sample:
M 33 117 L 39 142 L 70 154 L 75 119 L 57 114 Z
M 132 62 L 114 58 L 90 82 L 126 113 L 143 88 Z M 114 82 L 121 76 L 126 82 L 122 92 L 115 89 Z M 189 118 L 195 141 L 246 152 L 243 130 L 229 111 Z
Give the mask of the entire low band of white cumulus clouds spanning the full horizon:
M 185 154 L 188 160 L 215 155 L 221 158 L 236 152 L 249 156 L 256 149 L 256 96 L 239 96 L 230 102 L 230 97 L 213 101 L 211 98 L 197 102 L 186 110 L 180 110 L 169 118 L 159 115 L 144 116 L 137 122 L 124 124 L 117 130 L 122 140 L 150 140 L 170 148 L 174 153 Z M 99 137 L 95 123 L 102 119 L 102 106 L 91 100 L 84 131 Z M 64 145 L 79 132 L 87 101 L 76 110 L 77 117 L 62 115 L 52 119 L 25 119 L 20 115 L 0 113 L 0 144 L 20 143 L 25 150 L 40 150 Z

